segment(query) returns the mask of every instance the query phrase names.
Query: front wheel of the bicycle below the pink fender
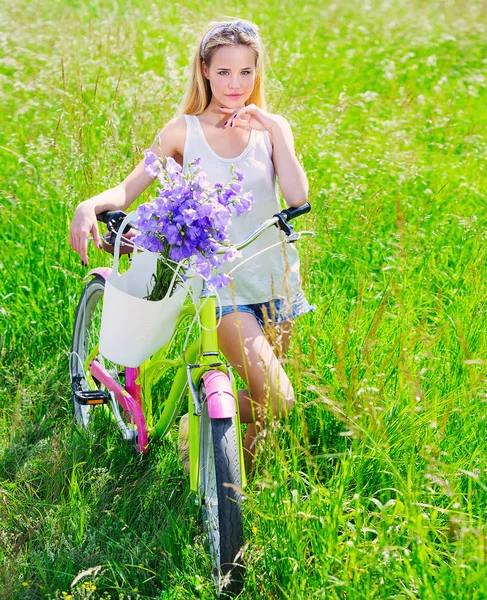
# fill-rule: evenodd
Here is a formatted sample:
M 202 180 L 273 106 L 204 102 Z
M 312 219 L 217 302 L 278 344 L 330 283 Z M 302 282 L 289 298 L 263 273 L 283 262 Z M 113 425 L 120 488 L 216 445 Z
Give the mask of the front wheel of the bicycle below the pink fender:
M 225 376 L 222 373 L 223 376 Z M 203 398 L 204 399 L 204 390 Z M 201 495 L 203 526 L 209 539 L 213 576 L 221 593 L 243 587 L 242 477 L 235 420 L 201 417 Z

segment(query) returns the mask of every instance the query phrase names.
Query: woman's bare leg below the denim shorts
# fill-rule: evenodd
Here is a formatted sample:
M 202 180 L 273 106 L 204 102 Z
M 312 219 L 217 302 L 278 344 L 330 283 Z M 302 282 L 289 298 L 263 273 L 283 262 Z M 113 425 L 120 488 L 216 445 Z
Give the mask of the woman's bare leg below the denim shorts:
M 218 343 L 248 390 L 239 392 L 240 420 L 248 423 L 244 449 L 247 472 L 252 471 L 255 437 L 265 426 L 267 408 L 275 418 L 284 417 L 294 403 L 294 391 L 281 366 L 289 345 L 291 324 L 262 332 L 254 315 L 225 315 L 218 328 Z

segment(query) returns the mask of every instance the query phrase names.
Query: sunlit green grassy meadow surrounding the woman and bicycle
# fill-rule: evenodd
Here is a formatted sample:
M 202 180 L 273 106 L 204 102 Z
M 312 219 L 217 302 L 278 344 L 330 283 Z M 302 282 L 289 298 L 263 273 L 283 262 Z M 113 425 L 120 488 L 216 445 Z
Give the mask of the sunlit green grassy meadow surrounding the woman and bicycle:
M 487 597 L 486 14 L 0 0 L 0 598 L 215 598 L 175 436 L 140 458 L 108 427 L 73 431 L 86 270 L 68 227 L 173 116 L 224 15 L 260 25 L 317 233 L 297 405 L 247 490 L 241 597 Z

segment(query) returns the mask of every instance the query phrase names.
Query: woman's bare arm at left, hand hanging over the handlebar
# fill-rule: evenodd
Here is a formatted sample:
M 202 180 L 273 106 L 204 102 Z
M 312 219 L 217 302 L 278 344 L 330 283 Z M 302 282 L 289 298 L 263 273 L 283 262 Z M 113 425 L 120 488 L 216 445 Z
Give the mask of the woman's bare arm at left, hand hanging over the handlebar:
M 185 136 L 184 117 L 173 119 L 156 137 L 151 150 L 158 156 L 171 156 L 178 160 L 183 153 Z M 102 247 L 96 215 L 105 210 L 125 210 L 153 181 L 154 178 L 146 173 L 142 160 L 122 183 L 78 204 L 69 231 L 69 244 L 80 255 L 84 265 L 88 264 L 87 245 L 90 233 L 96 246 Z

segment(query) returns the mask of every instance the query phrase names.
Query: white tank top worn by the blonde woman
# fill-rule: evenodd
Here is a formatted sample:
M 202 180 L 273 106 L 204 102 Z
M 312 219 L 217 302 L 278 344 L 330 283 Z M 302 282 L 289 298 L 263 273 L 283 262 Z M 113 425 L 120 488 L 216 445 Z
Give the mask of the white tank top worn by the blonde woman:
M 254 195 L 250 211 L 239 217 L 233 216 L 228 228 L 230 241 L 238 243 L 265 219 L 281 210 L 269 134 L 252 130 L 247 147 L 239 156 L 223 158 L 208 144 L 198 117 L 184 115 L 184 118 L 183 172 L 187 172 L 191 160 L 200 158 L 200 167 L 207 173 L 210 184 L 214 185 L 228 181 L 233 164 L 244 173 L 243 191 L 251 191 Z M 282 231 L 272 227 L 242 250 L 242 258 L 225 264 L 223 270 L 228 273 L 248 257 L 274 245 L 231 273 L 230 284 L 218 291 L 223 306 L 257 304 L 276 298 L 292 303 L 301 290 L 299 256 L 293 244 L 278 244 L 283 238 Z

